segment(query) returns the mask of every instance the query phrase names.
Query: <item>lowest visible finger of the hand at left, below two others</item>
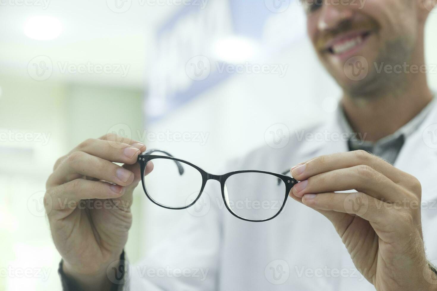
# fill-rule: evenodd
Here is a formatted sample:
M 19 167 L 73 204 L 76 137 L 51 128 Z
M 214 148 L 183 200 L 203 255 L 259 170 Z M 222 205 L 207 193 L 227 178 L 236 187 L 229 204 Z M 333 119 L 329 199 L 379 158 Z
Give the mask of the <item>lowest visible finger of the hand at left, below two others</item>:
M 48 193 L 52 199 L 52 209 L 63 210 L 74 208 L 71 203 L 83 199 L 119 198 L 125 193 L 125 187 L 104 181 L 76 179 L 50 188 Z

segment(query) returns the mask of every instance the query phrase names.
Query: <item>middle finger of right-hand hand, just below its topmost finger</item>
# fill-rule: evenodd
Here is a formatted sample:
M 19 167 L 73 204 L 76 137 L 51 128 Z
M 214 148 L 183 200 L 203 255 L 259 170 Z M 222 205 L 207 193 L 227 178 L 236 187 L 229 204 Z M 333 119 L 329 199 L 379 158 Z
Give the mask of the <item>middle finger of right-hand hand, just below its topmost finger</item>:
M 395 201 L 405 189 L 367 165 L 328 171 L 294 185 L 293 193 L 302 197 L 306 193 L 323 193 L 346 190 L 364 192 L 376 199 Z

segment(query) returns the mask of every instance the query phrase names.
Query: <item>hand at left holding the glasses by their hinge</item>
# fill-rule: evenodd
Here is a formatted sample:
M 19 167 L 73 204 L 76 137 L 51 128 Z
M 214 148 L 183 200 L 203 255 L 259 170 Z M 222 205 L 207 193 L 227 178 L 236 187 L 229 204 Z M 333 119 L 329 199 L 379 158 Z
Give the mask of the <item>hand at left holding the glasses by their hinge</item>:
M 106 270 L 128 239 L 132 192 L 141 180 L 137 159 L 145 150 L 115 134 L 88 139 L 60 157 L 47 180 L 53 241 L 64 273 L 82 290 L 109 290 Z M 145 174 L 152 168 L 149 163 Z

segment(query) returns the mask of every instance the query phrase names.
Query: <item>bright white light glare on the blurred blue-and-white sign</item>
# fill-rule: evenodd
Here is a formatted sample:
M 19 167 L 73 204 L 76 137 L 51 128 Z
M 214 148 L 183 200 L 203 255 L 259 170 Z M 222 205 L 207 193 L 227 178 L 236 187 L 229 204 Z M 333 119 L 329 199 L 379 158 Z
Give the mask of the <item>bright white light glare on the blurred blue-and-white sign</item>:
M 257 55 L 257 44 L 247 38 L 223 38 L 214 43 L 213 52 L 221 61 L 244 62 Z

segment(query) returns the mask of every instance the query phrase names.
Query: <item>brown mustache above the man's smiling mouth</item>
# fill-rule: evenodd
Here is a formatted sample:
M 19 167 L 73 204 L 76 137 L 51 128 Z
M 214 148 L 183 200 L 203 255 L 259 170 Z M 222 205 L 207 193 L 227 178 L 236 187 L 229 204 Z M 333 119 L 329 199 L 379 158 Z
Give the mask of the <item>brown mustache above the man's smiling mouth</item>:
M 342 21 L 337 27 L 320 32 L 317 41 L 316 41 L 316 48 L 318 50 L 324 50 L 326 43 L 336 36 L 349 32 L 349 31 L 376 31 L 379 28 L 378 23 L 373 20 L 365 20 L 365 21 L 350 21 L 345 20 Z

